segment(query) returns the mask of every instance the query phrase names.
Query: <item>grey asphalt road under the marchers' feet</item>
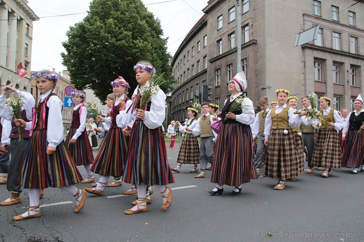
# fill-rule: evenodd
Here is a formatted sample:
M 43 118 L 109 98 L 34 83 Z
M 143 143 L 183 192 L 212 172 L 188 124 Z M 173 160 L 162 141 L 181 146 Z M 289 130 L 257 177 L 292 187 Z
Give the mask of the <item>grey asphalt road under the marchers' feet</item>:
M 173 167 L 177 155 L 178 149 L 168 149 Z M 301 174 L 295 182 L 288 181 L 284 190 L 274 190 L 273 179 L 259 177 L 244 184 L 240 195 L 231 195 L 233 188 L 224 187 L 222 195 L 211 196 L 207 192 L 214 188 L 211 171 L 207 171 L 208 178 L 195 179 L 196 173 L 188 172 L 191 168 L 183 165 L 181 173 L 174 173 L 176 183 L 171 184 L 175 189 L 168 210 L 161 211 L 162 198 L 154 189 L 150 211 L 136 215 L 123 213 L 136 198 L 117 196 L 130 188 L 123 184 L 106 188 L 103 196 L 88 194 L 78 214 L 73 213 L 73 196 L 47 188 L 40 200 L 47 205 L 41 208 L 41 217 L 13 221 L 12 216 L 29 206 L 26 189 L 20 204 L 0 207 L 0 241 L 364 241 L 364 172 L 352 175 L 350 169 L 334 169 L 333 176 L 322 178 L 322 171 L 315 170 Z M 86 178 L 83 166 L 79 169 Z M 1 201 L 8 196 L 6 186 L 0 185 Z

